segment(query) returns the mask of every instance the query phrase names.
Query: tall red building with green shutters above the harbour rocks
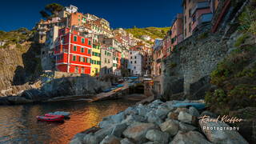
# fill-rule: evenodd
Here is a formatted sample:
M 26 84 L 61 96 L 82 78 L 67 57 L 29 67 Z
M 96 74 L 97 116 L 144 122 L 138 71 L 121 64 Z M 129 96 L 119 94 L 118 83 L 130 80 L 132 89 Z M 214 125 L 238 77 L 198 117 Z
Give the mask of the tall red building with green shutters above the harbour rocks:
M 58 30 L 58 45 L 54 49 L 57 70 L 90 74 L 91 41 L 82 35 L 70 28 Z

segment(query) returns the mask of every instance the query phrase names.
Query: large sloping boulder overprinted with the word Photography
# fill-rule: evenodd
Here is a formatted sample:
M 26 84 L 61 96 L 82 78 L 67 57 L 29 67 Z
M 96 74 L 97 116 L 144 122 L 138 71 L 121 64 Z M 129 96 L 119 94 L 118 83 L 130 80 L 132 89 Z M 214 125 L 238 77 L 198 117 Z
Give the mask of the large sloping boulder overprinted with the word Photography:
M 210 121 L 214 120 L 210 118 Z M 227 127 L 230 128 L 225 122 L 205 122 L 205 120 L 200 119 L 199 124 L 201 126 L 202 132 L 206 134 L 206 137 L 210 142 L 218 144 L 248 144 L 237 130 L 224 130 Z M 222 130 L 220 130 L 222 128 Z M 215 129 L 215 130 L 214 130 Z

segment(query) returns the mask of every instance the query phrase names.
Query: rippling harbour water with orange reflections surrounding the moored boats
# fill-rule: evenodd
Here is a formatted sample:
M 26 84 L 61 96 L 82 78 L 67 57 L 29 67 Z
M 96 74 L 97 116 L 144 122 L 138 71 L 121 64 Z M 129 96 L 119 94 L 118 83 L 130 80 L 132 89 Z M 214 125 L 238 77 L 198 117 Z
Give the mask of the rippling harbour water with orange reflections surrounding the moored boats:
M 25 106 L 0 106 L 0 143 L 68 143 L 74 134 L 96 126 L 110 114 L 125 110 L 134 102 L 59 102 Z M 69 111 L 64 123 L 38 122 L 35 116 L 50 111 Z

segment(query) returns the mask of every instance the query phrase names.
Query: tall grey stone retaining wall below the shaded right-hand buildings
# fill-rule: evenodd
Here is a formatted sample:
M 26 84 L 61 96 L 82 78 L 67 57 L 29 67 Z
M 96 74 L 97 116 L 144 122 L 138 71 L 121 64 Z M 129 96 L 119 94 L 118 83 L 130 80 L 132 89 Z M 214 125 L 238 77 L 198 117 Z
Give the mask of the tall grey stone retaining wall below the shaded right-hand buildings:
M 226 56 L 227 40 L 211 34 L 209 27 L 198 31 L 176 46 L 174 53 L 162 61 L 162 96 L 166 99 L 202 98 L 210 88 L 210 72 Z

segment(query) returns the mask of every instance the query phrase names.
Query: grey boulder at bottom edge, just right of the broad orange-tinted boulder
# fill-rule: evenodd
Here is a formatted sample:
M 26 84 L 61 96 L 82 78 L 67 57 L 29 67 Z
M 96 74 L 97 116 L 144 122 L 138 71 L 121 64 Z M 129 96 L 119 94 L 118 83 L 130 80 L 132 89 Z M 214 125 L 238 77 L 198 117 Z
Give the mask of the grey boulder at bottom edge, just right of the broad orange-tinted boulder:
M 146 138 L 149 139 L 150 141 L 165 144 L 169 140 L 169 134 L 164 133 L 160 130 L 148 130 L 146 132 Z

